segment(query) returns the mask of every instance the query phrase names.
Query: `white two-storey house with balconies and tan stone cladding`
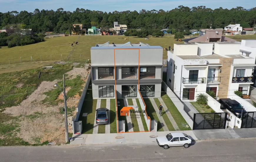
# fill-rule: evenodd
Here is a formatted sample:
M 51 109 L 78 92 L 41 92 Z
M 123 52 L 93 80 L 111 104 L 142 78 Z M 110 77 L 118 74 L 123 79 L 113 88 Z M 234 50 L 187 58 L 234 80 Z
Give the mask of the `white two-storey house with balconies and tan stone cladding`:
M 213 43 L 174 44 L 168 51 L 167 85 L 182 100 L 206 91 L 220 98 L 235 90 L 248 94 L 255 58 L 242 55 L 240 47 L 237 42 L 215 42 L 213 52 Z

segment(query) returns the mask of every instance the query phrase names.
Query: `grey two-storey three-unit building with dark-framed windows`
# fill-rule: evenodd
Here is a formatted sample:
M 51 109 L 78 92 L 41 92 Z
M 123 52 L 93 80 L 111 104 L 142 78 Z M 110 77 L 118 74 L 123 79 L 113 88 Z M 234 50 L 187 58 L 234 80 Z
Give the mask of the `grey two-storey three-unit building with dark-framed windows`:
M 161 97 L 163 48 L 139 43 L 91 48 L 93 99 Z

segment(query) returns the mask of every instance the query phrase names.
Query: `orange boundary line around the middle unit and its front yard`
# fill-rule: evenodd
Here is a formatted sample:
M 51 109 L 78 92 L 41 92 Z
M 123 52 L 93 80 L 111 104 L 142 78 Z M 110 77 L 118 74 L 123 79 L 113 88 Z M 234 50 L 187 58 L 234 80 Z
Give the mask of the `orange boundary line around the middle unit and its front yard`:
M 139 75 L 138 75 L 138 91 L 139 91 L 139 94 L 140 94 L 140 97 L 142 98 L 142 101 L 143 101 L 143 104 L 145 105 L 145 113 L 146 113 L 146 116 L 147 116 L 147 119 L 149 120 L 149 131 L 133 131 L 133 132 L 118 132 L 118 111 L 117 111 L 117 80 L 116 80 L 116 53 L 115 53 L 115 50 L 139 50 L 139 48 L 132 48 L 132 49 L 128 49 L 128 48 L 119 48 L 119 49 L 114 49 L 114 66 L 115 66 L 115 98 L 116 98 L 116 116 L 117 116 L 117 133 L 133 133 L 133 132 L 149 132 L 150 131 L 150 127 L 151 127 L 151 119 L 150 117 L 147 115 L 147 112 L 146 112 L 146 104 L 144 102 L 144 99 L 142 98 L 142 95 L 139 91 Z M 139 65 L 139 64 L 138 64 Z M 139 70 L 139 66 L 138 66 L 138 70 Z M 139 73 L 139 72 L 138 72 Z

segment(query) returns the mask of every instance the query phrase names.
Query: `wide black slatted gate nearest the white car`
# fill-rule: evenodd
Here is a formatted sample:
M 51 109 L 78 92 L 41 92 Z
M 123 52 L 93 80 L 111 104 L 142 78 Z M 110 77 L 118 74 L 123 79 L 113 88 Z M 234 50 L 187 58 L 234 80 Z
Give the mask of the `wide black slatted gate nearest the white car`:
M 226 129 L 227 113 L 196 113 L 193 119 L 193 130 Z

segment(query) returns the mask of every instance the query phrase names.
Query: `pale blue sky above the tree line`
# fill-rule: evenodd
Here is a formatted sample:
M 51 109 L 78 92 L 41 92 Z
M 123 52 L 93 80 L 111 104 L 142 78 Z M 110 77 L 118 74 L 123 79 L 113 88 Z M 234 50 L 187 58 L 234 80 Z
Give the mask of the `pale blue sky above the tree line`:
M 164 11 L 172 10 L 180 5 L 188 6 L 206 6 L 207 8 L 216 9 L 222 7 L 223 9 L 232 9 L 241 6 L 244 9 L 251 9 L 256 7 L 255 0 L 0 0 L 0 12 L 8 11 L 28 11 L 33 12 L 34 9 L 54 10 L 63 8 L 64 11 L 75 11 L 77 8 L 96 10 L 96 11 L 140 11 L 146 10 L 159 10 Z

